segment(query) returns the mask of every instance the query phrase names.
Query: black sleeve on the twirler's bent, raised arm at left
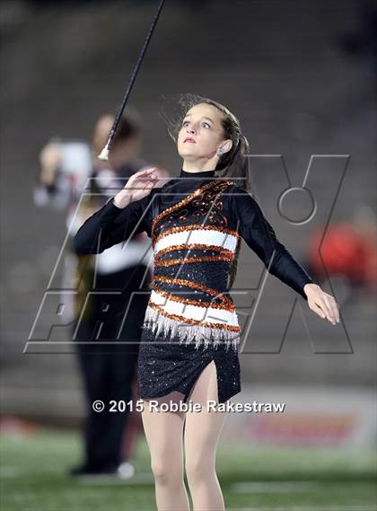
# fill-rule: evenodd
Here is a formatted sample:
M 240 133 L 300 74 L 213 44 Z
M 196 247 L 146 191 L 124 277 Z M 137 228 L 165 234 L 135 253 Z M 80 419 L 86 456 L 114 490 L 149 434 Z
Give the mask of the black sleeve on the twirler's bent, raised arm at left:
M 111 197 L 105 206 L 90 216 L 75 233 L 73 247 L 76 253 L 99 254 L 113 245 L 127 240 L 131 234 L 149 231 L 149 195 L 121 208 Z

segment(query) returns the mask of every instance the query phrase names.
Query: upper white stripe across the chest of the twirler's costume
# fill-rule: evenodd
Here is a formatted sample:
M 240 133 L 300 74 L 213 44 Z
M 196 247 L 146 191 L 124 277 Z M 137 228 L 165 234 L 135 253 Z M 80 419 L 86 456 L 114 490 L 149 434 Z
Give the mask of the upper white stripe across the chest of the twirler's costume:
M 215 229 L 193 229 L 192 231 L 180 231 L 180 233 L 171 233 L 166 236 L 162 236 L 154 247 L 154 253 L 162 251 L 172 245 L 180 245 L 182 243 L 215 245 L 235 252 L 237 238 L 232 234 L 222 233 Z

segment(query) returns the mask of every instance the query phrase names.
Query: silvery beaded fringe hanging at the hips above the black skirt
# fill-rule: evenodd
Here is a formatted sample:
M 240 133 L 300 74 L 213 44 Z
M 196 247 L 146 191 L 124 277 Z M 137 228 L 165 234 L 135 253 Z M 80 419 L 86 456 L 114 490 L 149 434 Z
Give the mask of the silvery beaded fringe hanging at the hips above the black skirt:
M 161 332 L 166 337 L 174 338 L 177 336 L 180 339 L 180 344 L 183 342 L 185 342 L 186 345 L 192 344 L 195 339 L 195 348 L 197 349 L 203 344 L 205 348 L 207 348 L 209 344 L 216 348 L 220 343 L 224 343 L 226 350 L 228 350 L 231 345 L 234 350 L 237 350 L 240 343 L 239 331 L 185 324 L 184 322 L 178 322 L 177 320 L 168 318 L 149 306 L 146 308 L 143 328 L 152 330 L 156 337 Z

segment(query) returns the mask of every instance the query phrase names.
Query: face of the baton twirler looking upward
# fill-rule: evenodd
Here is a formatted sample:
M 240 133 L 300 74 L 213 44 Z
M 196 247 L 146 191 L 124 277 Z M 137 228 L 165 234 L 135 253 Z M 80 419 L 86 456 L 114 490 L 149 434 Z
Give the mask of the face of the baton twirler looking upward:
M 213 158 L 224 144 L 222 113 L 213 105 L 199 103 L 191 107 L 182 120 L 177 148 L 185 160 Z

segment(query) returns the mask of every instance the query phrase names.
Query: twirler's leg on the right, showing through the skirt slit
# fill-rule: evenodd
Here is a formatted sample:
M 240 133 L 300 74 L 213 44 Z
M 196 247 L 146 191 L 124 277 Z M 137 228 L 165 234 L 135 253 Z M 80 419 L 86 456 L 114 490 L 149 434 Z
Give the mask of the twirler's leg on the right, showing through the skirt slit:
M 215 472 L 215 450 L 226 412 L 206 411 L 209 400 L 218 402 L 214 361 L 199 375 L 188 400 L 200 403 L 202 410 L 186 413 L 186 475 L 194 511 L 224 511 L 224 498 Z

